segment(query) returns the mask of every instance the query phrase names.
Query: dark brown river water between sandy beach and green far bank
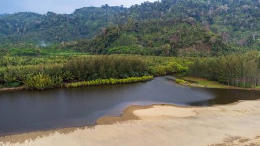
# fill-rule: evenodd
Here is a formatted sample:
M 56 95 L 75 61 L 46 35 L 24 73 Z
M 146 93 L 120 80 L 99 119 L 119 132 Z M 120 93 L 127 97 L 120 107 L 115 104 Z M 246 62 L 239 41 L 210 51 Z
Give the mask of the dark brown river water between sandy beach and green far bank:
M 260 99 L 259 91 L 179 86 L 173 77 L 149 82 L 0 92 L 0 135 L 57 127 L 92 125 L 119 116 L 127 106 L 176 104 L 212 106 Z

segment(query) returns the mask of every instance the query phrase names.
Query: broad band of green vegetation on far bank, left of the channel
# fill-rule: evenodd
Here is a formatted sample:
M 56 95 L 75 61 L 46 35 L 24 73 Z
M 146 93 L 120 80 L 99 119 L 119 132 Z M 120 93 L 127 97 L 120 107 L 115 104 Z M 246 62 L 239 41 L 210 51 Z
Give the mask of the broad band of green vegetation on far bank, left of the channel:
M 0 60 L 0 88 L 23 85 L 25 88 L 44 89 L 110 78 L 116 82 L 135 82 L 134 77 L 141 77 L 137 78 L 139 81 L 143 80 L 142 76 L 146 79 L 146 75 L 185 72 L 192 60 L 155 56 L 88 56 L 85 53 L 46 56 L 8 53 Z

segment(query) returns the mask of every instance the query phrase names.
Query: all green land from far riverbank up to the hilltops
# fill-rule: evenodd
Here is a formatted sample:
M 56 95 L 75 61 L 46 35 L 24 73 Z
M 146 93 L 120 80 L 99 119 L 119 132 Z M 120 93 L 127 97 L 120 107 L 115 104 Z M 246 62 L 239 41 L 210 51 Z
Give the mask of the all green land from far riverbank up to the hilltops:
M 259 0 L 161 0 L 73 14 L 3 14 L 0 88 L 171 73 L 203 77 L 196 81 L 203 86 L 258 87 L 259 8 Z

